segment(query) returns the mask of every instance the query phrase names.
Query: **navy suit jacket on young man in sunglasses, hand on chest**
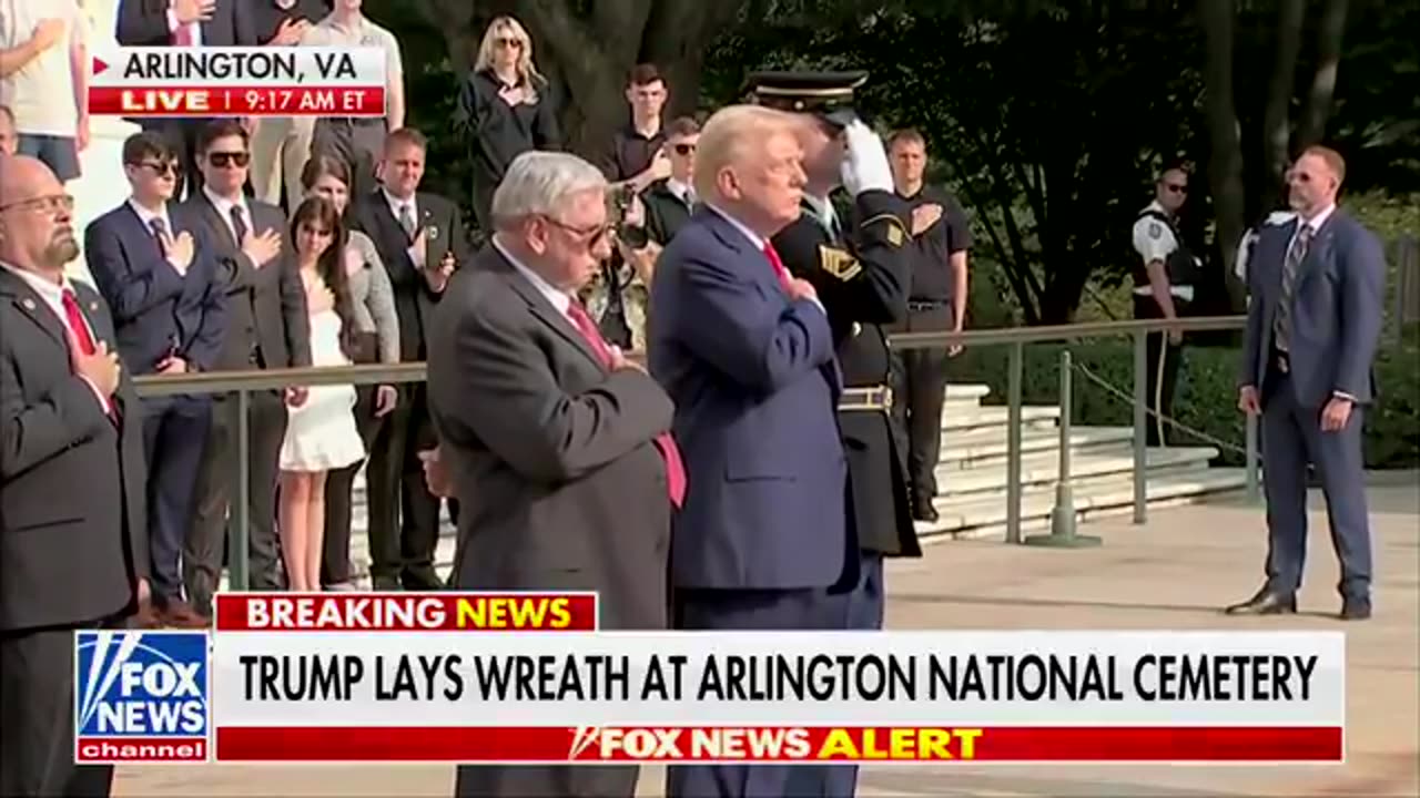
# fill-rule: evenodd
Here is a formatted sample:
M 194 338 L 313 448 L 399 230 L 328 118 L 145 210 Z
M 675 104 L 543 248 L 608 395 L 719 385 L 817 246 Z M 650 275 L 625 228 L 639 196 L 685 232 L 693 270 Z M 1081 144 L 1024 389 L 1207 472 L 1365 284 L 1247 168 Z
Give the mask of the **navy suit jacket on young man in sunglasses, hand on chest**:
M 168 203 L 173 236 L 189 233 L 195 254 L 187 274 L 163 258 L 138 212 L 125 202 L 89 223 L 84 257 L 114 314 L 119 356 L 133 373 L 152 373 L 176 355 L 195 371 L 216 368 L 227 322 L 227 300 L 212 246 L 190 212 Z

